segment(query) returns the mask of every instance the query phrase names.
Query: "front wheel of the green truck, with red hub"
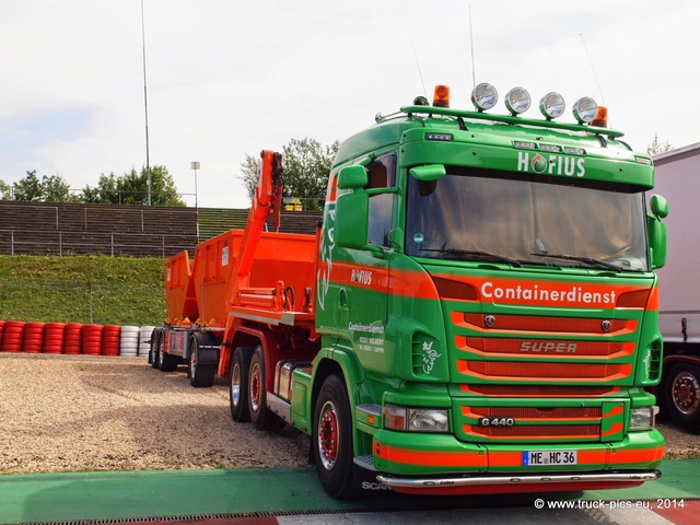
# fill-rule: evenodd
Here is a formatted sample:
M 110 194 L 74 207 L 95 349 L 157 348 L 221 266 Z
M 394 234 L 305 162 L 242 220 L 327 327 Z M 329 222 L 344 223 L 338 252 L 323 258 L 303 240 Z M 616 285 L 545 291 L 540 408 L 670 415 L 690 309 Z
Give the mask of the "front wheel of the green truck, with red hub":
M 316 472 L 326 492 L 334 498 L 354 495 L 350 402 L 339 375 L 329 375 L 320 386 L 312 447 Z

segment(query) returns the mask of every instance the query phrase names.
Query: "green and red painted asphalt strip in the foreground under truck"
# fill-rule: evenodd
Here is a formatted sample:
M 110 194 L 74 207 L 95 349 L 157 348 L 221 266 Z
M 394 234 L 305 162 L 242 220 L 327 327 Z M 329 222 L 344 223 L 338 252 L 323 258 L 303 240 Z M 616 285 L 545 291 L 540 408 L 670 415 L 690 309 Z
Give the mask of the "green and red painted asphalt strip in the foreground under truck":
M 661 479 L 633 489 L 450 498 L 381 491 L 346 501 L 326 495 L 313 467 L 3 475 L 0 524 L 700 523 L 700 459 L 665 460 L 661 470 Z

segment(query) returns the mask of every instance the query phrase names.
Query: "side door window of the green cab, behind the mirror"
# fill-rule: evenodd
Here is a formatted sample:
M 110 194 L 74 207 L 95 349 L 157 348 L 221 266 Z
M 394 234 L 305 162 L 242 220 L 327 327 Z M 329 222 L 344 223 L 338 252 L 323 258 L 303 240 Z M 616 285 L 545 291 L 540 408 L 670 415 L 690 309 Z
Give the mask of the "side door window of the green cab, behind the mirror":
M 368 165 L 368 189 L 390 188 L 396 185 L 396 153 L 382 155 Z M 394 194 L 370 197 L 368 243 L 389 246 L 389 232 L 394 222 Z

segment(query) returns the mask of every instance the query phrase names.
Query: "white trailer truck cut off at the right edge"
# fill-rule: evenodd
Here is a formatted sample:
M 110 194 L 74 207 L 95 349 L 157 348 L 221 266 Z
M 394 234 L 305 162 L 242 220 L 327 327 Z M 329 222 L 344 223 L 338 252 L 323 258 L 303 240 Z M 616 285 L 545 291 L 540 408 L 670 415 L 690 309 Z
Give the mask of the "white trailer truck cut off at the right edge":
M 700 142 L 654 156 L 654 192 L 668 200 L 666 266 L 658 270 L 664 339 L 660 405 L 677 424 L 700 432 Z

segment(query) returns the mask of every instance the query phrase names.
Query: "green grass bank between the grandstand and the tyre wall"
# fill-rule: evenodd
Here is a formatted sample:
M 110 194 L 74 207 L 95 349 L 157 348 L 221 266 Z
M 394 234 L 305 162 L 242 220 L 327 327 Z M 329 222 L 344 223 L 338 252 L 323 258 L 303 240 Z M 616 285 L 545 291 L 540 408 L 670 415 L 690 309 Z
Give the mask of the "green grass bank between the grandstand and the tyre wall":
M 163 260 L 104 256 L 0 256 L 0 318 L 160 325 Z

